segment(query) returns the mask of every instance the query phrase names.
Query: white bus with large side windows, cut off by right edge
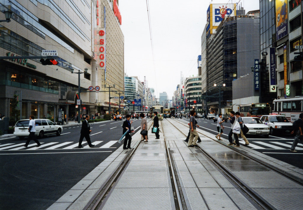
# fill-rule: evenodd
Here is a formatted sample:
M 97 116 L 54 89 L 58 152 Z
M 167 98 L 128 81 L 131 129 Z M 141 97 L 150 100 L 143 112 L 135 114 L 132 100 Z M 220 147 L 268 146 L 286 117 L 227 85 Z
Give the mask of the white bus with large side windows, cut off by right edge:
M 302 101 L 302 96 L 287 99 L 275 99 L 272 103 L 272 115 L 283 115 L 290 122 L 294 122 L 299 119 L 300 113 L 303 112 Z

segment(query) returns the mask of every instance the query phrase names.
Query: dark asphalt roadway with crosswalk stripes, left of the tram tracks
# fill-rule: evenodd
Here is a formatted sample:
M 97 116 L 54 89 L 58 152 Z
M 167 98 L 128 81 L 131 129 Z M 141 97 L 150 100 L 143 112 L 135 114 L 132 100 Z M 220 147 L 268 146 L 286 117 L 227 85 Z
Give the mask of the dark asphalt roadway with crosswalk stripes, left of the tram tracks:
M 141 120 L 133 120 L 139 131 Z M 31 141 L 12 137 L 0 140 L 0 209 L 47 209 L 65 192 L 121 146 L 123 121 L 91 124 L 94 148 L 85 139 L 78 149 L 81 126 L 64 127 L 61 136 Z

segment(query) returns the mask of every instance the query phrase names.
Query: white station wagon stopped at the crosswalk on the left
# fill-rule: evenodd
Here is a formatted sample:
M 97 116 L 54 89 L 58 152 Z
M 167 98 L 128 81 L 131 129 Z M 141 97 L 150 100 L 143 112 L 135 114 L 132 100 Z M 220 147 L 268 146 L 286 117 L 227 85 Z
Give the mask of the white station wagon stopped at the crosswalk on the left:
M 29 119 L 27 120 L 19 120 L 15 124 L 15 132 L 14 135 L 18 136 L 20 139 L 27 137 L 29 135 L 28 127 L 29 127 Z M 34 119 L 35 121 L 35 136 L 39 138 L 43 138 L 45 135 L 56 134 L 60 136 L 62 131 L 62 126 L 57 125 L 54 122 L 48 119 Z

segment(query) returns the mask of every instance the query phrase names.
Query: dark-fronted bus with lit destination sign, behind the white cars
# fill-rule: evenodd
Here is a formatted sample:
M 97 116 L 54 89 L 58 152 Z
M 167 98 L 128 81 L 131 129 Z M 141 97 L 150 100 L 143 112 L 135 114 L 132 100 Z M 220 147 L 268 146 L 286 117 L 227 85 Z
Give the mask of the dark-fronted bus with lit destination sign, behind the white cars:
M 268 103 L 255 103 L 238 105 L 241 117 L 258 117 L 262 115 L 269 115 L 271 113 L 270 105 Z

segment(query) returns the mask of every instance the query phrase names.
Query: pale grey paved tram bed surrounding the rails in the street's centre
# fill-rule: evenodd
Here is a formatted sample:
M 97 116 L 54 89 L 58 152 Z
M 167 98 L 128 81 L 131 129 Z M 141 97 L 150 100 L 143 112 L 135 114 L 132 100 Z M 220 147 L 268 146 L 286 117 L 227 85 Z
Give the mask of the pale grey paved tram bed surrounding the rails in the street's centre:
M 228 178 L 204 153 L 231 171 L 234 178 L 242 180 L 246 188 L 263 199 L 267 209 L 303 208 L 303 185 L 266 167 L 266 164 L 302 180 L 303 170 L 248 147 L 226 146 L 227 140 L 219 142 L 215 135 L 200 129 L 197 131 L 202 142 L 197 144 L 201 149 L 188 147 L 183 141 L 188 126 L 176 120 L 161 121 L 160 130 L 160 139 L 155 139 L 150 128 L 146 143 L 141 142 L 141 135 L 137 132 L 132 136 L 132 150 L 123 150 L 121 145 L 48 210 L 91 209 L 90 203 L 97 199 L 100 189 L 132 151 L 122 173 L 95 209 L 264 209 L 249 193 L 239 189 L 236 179 Z M 168 156 L 175 181 L 169 171 Z

